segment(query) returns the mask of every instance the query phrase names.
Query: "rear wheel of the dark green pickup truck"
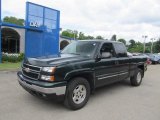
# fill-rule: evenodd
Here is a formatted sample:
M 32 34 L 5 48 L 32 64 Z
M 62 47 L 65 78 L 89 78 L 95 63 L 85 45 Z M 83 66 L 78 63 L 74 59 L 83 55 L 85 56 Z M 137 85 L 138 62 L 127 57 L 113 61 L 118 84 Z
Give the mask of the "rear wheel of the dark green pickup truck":
M 143 78 L 143 71 L 141 69 L 138 69 L 134 76 L 130 78 L 130 82 L 132 86 L 139 86 L 142 83 Z

